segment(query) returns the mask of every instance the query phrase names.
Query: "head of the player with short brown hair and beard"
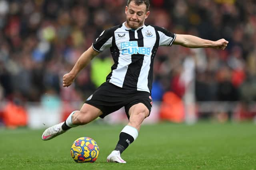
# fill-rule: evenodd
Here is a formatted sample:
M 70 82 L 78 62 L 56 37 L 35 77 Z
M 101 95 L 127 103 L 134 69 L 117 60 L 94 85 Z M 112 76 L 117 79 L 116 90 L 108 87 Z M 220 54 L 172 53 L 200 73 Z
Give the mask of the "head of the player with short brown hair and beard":
M 139 6 L 130 2 L 129 6 L 125 7 L 126 14 L 126 26 L 132 29 L 137 29 L 144 24 L 146 18 L 148 18 L 149 11 L 146 12 L 146 4 L 140 4 Z

